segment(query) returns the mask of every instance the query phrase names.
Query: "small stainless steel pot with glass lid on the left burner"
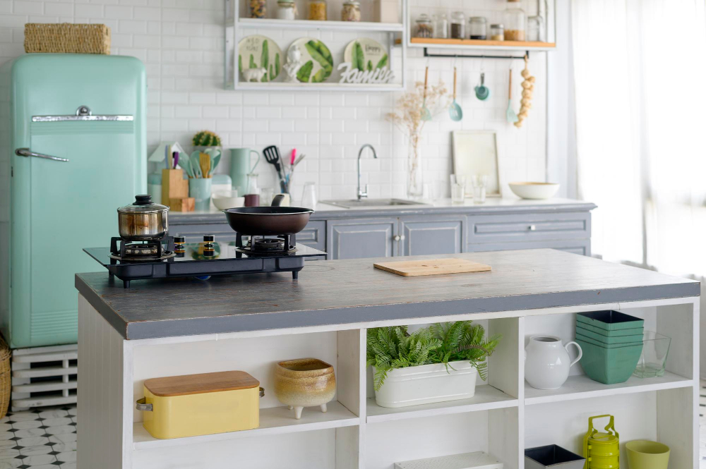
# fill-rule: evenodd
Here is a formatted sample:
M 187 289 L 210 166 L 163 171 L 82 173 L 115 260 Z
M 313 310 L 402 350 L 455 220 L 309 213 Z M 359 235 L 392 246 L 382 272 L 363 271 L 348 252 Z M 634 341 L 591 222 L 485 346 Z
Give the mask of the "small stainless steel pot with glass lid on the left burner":
M 118 232 L 127 241 L 152 241 L 167 236 L 169 207 L 152 202 L 151 195 L 136 195 L 132 205 L 118 209 Z

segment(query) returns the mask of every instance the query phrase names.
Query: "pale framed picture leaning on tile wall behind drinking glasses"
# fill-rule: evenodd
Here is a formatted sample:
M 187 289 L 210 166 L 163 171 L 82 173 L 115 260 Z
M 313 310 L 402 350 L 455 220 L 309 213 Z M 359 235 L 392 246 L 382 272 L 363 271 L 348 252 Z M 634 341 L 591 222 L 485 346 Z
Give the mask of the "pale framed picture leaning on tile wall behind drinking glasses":
M 498 138 L 494 130 L 454 130 L 453 172 L 466 176 L 466 197 L 472 197 L 471 178 L 475 174 L 488 176 L 487 197 L 502 197 Z

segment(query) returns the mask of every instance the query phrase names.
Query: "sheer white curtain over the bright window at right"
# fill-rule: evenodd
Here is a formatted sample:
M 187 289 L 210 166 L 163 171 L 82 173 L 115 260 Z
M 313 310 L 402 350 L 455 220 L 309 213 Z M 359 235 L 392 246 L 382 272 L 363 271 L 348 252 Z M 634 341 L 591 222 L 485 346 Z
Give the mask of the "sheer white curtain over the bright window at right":
M 706 276 L 704 0 L 572 0 L 579 193 L 606 260 Z

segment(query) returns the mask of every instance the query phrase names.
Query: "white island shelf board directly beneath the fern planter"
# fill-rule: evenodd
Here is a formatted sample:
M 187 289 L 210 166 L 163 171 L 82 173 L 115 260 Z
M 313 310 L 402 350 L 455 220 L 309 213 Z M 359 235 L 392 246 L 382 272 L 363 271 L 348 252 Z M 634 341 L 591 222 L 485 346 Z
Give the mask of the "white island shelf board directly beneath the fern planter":
M 476 387 L 476 395 L 470 399 L 438 402 L 421 406 L 400 408 L 385 408 L 378 406 L 375 398 L 367 401 L 366 422 L 392 422 L 409 418 L 424 418 L 433 415 L 448 415 L 454 413 L 478 412 L 481 410 L 517 407 L 517 399 L 508 396 L 500 389 L 484 385 Z

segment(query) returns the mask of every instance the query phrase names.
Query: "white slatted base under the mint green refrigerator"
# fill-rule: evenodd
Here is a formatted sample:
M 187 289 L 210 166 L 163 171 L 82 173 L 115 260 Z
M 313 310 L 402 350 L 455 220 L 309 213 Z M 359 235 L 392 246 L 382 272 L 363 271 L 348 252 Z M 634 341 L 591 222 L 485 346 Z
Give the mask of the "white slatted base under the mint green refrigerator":
M 13 411 L 76 403 L 78 346 L 18 348 L 12 352 Z

